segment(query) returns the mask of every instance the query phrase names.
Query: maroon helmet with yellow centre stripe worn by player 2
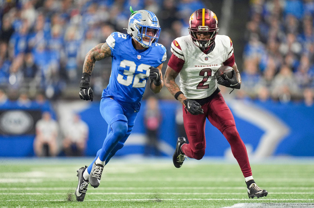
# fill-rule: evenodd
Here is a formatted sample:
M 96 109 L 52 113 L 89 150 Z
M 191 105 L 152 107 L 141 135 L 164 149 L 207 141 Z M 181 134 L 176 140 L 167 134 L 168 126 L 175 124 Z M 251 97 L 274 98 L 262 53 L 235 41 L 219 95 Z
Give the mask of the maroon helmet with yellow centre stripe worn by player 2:
M 189 32 L 192 36 L 193 43 L 199 48 L 205 50 L 214 44 L 218 34 L 218 19 L 216 14 L 209 9 L 198 9 L 190 17 Z M 198 39 L 197 33 L 210 34 L 209 39 Z

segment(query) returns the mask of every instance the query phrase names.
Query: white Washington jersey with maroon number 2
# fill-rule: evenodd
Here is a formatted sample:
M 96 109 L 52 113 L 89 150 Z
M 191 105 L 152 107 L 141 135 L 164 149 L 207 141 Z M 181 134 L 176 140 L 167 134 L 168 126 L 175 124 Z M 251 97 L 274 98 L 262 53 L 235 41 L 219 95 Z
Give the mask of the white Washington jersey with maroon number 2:
M 217 89 L 216 71 L 233 55 L 233 46 L 228 36 L 216 35 L 213 51 L 205 54 L 193 43 L 191 35 L 187 35 L 172 42 L 171 52 L 184 61 L 179 72 L 184 96 L 201 99 Z

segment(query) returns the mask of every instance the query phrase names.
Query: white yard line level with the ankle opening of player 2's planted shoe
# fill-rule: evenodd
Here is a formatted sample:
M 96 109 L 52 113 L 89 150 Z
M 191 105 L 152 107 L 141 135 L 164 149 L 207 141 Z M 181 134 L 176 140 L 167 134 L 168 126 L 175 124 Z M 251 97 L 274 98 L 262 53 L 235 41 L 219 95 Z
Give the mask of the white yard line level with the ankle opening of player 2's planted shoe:
M 71 190 L 75 187 L 21 187 L 21 188 L 1 188 L 1 190 Z M 314 190 L 314 187 L 265 187 L 268 189 L 283 189 L 283 190 Z M 212 187 L 199 187 L 199 186 L 176 186 L 176 187 L 98 187 L 97 190 L 176 190 L 176 189 L 186 189 L 186 190 L 246 190 L 245 186 L 234 186 L 234 187 L 222 187 L 222 186 L 212 186 Z M 0 191 L 1 191 L 0 190 Z

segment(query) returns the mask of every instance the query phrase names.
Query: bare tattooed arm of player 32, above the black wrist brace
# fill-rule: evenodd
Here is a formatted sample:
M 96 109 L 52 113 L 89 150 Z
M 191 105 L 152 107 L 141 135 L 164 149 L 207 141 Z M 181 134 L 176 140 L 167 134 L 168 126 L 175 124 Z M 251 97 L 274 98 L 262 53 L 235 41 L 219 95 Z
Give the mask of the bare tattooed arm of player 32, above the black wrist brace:
M 96 61 L 102 60 L 104 58 L 111 56 L 111 49 L 107 43 L 100 43 L 90 51 L 85 56 L 85 61 L 83 65 L 83 73 L 92 74 L 94 65 Z

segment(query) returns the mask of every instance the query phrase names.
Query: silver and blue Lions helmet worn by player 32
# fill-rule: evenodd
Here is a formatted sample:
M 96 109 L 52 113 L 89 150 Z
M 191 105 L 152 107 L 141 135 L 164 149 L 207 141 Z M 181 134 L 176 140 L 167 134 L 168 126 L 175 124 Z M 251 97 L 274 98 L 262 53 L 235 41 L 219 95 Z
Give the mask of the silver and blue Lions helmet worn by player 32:
M 154 13 L 138 10 L 129 18 L 127 33 L 143 47 L 154 47 L 160 34 L 159 21 Z

